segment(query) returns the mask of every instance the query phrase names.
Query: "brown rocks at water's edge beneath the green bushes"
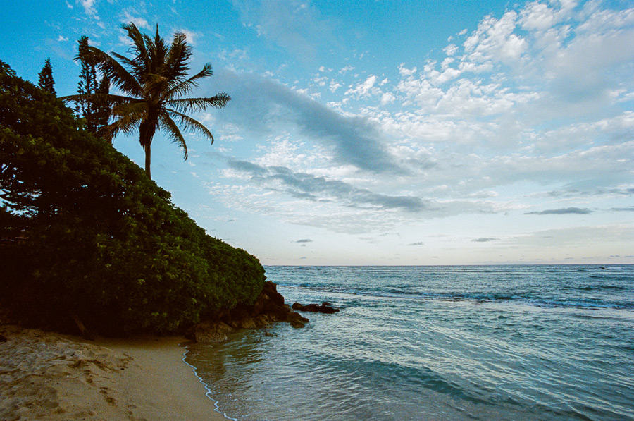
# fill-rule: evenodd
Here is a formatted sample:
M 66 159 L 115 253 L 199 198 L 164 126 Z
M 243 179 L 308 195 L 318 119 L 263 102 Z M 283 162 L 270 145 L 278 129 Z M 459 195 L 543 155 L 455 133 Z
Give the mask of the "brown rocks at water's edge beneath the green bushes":
M 232 310 L 220 312 L 213 319 L 196 324 L 185 337 L 202 343 L 224 342 L 228 340 L 228 334 L 236 329 L 255 329 L 276 322 L 288 322 L 299 328 L 304 327 L 309 319 L 285 304 L 275 283 L 267 281 L 253 305 L 238 305 Z

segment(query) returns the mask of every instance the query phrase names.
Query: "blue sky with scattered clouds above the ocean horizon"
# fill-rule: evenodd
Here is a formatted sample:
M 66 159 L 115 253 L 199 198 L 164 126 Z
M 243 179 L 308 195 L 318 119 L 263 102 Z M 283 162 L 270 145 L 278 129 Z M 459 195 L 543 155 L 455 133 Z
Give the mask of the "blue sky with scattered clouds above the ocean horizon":
M 263 264 L 634 263 L 630 1 L 11 1 L 0 59 L 74 94 L 77 39 L 130 22 L 232 97 L 187 161 L 154 137 L 154 180 Z

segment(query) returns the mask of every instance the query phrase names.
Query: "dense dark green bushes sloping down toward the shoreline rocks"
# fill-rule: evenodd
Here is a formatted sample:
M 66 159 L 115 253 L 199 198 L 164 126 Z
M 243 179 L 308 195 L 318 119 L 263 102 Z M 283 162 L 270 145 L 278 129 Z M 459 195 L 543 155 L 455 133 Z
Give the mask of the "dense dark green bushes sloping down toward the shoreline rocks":
M 206 235 L 61 100 L 0 68 L 0 297 L 52 324 L 178 331 L 263 288 L 255 257 Z M 5 233 L 6 234 L 6 233 Z

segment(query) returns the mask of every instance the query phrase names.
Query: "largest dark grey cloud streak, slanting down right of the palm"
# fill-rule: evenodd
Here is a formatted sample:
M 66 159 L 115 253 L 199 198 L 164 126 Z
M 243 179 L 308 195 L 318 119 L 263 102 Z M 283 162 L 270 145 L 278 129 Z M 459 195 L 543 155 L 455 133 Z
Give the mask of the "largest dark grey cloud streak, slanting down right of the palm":
M 332 147 L 341 164 L 372 173 L 405 174 L 381 140 L 383 133 L 368 118 L 343 116 L 289 87 L 252 73 L 223 69 L 213 89 L 230 92 L 223 121 L 259 136 L 292 126 Z

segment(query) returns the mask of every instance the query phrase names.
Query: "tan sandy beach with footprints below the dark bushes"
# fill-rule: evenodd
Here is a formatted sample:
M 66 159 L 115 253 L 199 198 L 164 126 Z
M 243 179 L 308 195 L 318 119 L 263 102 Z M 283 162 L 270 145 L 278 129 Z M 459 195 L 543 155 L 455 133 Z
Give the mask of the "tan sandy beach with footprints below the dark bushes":
M 180 337 L 0 334 L 1 420 L 226 420 L 182 361 Z

